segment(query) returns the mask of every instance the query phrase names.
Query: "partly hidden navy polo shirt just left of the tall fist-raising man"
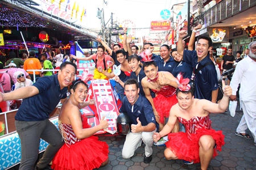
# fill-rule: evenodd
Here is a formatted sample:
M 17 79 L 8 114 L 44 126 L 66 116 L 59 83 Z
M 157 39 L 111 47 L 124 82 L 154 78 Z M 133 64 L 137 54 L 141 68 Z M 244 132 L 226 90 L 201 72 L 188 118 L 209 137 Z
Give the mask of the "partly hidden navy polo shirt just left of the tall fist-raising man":
M 191 79 L 191 76 L 192 76 L 192 66 L 185 62 L 185 61 L 180 61 L 180 62 L 177 62 L 177 61 L 174 61 L 174 70 L 172 70 L 172 75 L 174 75 L 175 77 L 177 77 L 177 75 L 179 73 L 183 74 L 183 78 L 189 78 Z

